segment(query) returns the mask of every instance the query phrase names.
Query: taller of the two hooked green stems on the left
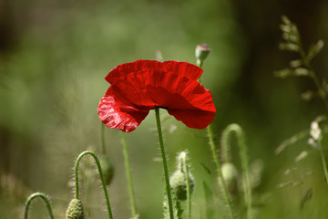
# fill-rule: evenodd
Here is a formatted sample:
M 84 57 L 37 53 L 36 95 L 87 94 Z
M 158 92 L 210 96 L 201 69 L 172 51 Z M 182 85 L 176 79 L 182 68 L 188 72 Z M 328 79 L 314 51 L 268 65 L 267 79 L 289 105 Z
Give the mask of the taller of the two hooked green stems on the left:
M 107 207 L 108 207 L 108 216 L 109 216 L 110 219 L 113 219 L 113 214 L 111 212 L 110 203 L 109 203 L 108 191 L 107 191 L 106 183 L 105 183 L 104 176 L 103 176 L 103 173 L 102 173 L 102 170 L 101 170 L 101 165 L 100 165 L 99 159 L 97 158 L 97 155 L 93 151 L 84 151 L 84 152 L 80 153 L 80 155 L 78 155 L 78 157 L 77 157 L 77 161 L 76 161 L 76 164 L 75 164 L 75 167 L 74 167 L 75 198 L 79 199 L 78 164 L 85 155 L 91 155 L 94 158 L 94 160 L 97 164 L 97 171 L 99 173 L 100 181 L 102 183 L 102 187 L 103 187 L 104 194 L 105 194 L 106 204 L 107 204 Z

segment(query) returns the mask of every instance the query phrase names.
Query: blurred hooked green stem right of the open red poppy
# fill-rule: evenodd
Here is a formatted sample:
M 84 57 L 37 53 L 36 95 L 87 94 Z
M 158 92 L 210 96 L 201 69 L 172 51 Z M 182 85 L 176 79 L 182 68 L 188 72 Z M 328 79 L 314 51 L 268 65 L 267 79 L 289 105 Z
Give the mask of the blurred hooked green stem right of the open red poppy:
M 231 156 L 229 154 L 229 137 L 232 132 L 236 132 L 238 145 L 240 148 L 240 155 L 241 155 L 241 168 L 243 172 L 243 181 L 244 181 L 244 199 L 247 204 L 247 218 L 252 218 L 252 208 L 251 208 L 251 183 L 250 183 L 250 174 L 249 174 L 249 162 L 247 156 L 247 147 L 245 143 L 245 136 L 241 129 L 241 126 L 238 124 L 231 124 L 222 132 L 222 151 L 225 151 L 224 156 L 227 162 L 230 162 Z

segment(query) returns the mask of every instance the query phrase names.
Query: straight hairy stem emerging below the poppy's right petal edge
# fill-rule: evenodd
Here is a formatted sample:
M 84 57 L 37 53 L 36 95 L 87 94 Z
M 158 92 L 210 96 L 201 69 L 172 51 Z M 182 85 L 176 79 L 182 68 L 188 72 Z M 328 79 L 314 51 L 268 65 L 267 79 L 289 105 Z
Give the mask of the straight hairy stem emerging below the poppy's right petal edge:
M 212 152 L 212 156 L 213 156 L 213 159 L 215 161 L 215 164 L 216 164 L 216 167 L 217 167 L 217 170 L 218 170 L 218 173 L 219 173 L 220 182 L 222 183 L 222 190 L 223 190 L 224 199 L 225 199 L 225 202 L 228 206 L 229 214 L 230 214 L 231 218 L 234 219 L 235 216 L 234 216 L 233 211 L 232 211 L 231 200 L 230 200 L 230 197 L 229 197 L 227 185 L 224 181 L 223 174 L 222 174 L 222 171 L 221 171 L 220 160 L 219 160 L 218 153 L 216 151 L 216 147 L 215 147 L 215 143 L 214 143 L 214 139 L 213 139 L 213 133 L 211 131 L 210 125 L 207 127 L 207 132 L 208 132 L 209 139 L 210 139 L 210 151 Z

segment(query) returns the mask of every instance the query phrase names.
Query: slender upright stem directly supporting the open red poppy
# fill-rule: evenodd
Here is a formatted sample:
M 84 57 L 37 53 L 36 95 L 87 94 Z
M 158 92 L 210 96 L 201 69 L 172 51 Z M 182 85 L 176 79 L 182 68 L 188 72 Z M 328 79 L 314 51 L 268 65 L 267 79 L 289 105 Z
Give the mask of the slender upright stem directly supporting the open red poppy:
M 166 154 L 165 154 L 165 148 L 164 148 L 164 142 L 163 142 L 163 135 L 162 135 L 161 126 L 160 126 L 159 107 L 156 107 L 155 108 L 155 114 L 156 114 L 157 128 L 158 128 L 158 132 L 159 132 L 159 146 L 160 146 L 160 152 L 161 152 L 161 155 L 162 155 L 162 162 L 163 162 L 163 168 L 164 168 L 166 191 L 167 191 L 167 194 L 168 194 L 169 218 L 170 219 L 174 219 L 174 217 L 173 217 L 173 204 L 172 204 L 171 190 L 170 190 L 170 185 L 169 185 L 169 170 L 168 170 L 168 163 L 167 163 L 167 158 L 166 158 Z

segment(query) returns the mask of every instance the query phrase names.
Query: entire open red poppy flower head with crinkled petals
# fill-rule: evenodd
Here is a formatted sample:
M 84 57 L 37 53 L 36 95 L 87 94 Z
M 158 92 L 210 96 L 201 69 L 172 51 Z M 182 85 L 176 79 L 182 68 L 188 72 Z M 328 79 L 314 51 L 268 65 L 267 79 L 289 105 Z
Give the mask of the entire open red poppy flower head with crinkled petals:
M 187 62 L 137 60 L 108 73 L 111 84 L 97 108 L 109 128 L 135 130 L 156 107 L 193 129 L 204 129 L 213 120 L 212 96 L 197 79 L 202 69 Z

